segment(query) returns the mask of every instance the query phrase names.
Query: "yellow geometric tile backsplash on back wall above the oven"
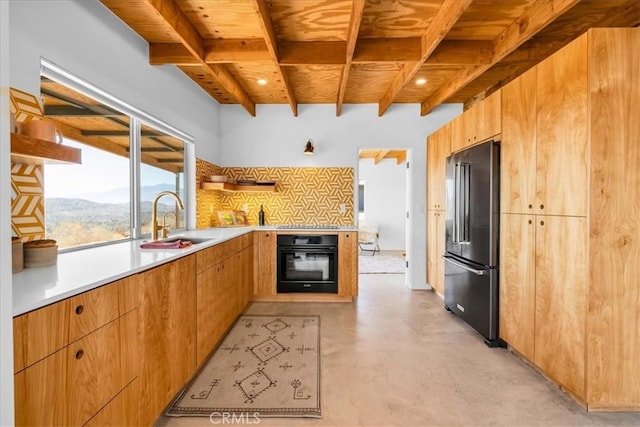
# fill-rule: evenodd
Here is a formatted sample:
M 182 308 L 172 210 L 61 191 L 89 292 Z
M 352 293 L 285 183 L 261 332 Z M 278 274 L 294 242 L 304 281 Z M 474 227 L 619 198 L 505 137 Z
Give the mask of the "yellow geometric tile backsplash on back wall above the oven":
M 198 172 L 198 165 L 203 168 L 202 173 Z M 209 173 L 209 170 L 215 172 Z M 353 168 L 228 168 L 201 160 L 196 163 L 199 179 L 206 180 L 213 174 L 226 175 L 232 181 L 276 181 L 276 191 L 198 190 L 196 197 L 202 199 L 198 201 L 198 228 L 217 226 L 216 211 L 219 209 L 245 210 L 249 224 L 257 225 L 261 205 L 267 224 L 353 224 Z M 344 213 L 340 211 L 341 204 L 345 206 Z

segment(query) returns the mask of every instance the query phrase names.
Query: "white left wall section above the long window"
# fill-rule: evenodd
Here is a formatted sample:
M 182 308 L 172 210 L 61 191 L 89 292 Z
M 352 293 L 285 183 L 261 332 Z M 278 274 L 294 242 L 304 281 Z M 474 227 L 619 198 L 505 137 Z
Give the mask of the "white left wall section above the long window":
M 0 0 L 4 1 L 4 0 Z M 219 105 L 97 0 L 10 2 L 11 86 L 40 93 L 40 57 L 195 138 L 219 162 Z

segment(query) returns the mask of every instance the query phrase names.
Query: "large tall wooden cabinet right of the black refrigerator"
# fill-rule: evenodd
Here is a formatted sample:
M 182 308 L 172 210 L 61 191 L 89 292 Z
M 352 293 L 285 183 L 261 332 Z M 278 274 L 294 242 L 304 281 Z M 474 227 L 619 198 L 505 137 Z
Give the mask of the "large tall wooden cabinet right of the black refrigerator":
M 639 49 L 592 29 L 502 89 L 500 336 L 590 410 L 640 410 Z

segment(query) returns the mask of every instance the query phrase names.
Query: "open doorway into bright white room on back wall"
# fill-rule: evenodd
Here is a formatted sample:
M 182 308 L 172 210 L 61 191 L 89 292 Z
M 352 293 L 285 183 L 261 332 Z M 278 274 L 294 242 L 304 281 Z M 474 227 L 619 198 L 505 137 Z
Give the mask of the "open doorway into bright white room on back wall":
M 404 273 L 407 286 L 410 274 L 406 260 L 410 257 L 408 239 L 411 234 L 407 220 L 410 212 L 409 156 L 408 149 L 361 148 L 356 176 L 358 226 L 365 227 L 369 235 L 377 230 L 375 244 L 360 247 L 360 272 Z

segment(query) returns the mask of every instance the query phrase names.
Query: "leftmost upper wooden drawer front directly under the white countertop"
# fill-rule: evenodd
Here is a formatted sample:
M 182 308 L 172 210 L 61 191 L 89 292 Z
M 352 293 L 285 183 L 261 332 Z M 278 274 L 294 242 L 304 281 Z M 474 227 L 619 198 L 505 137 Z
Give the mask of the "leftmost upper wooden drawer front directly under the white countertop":
M 14 369 L 18 372 L 69 342 L 69 301 L 30 311 L 13 319 Z

